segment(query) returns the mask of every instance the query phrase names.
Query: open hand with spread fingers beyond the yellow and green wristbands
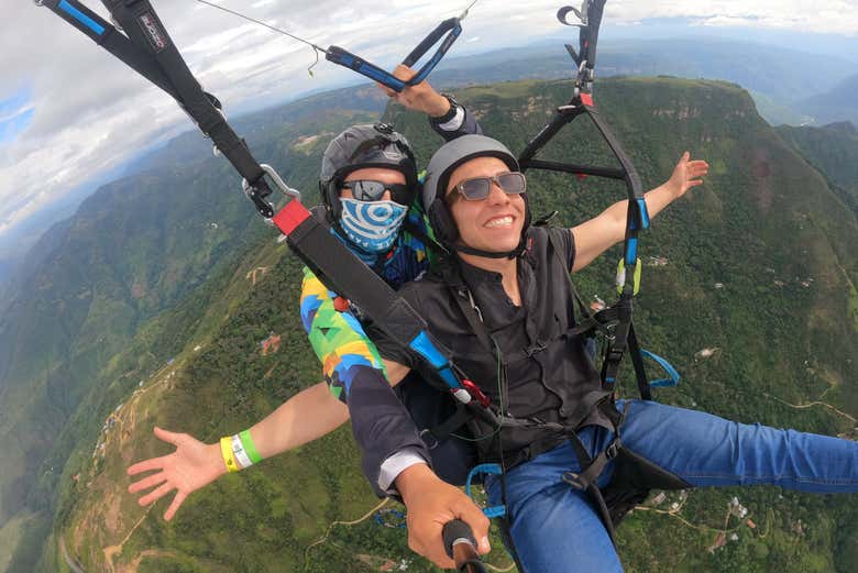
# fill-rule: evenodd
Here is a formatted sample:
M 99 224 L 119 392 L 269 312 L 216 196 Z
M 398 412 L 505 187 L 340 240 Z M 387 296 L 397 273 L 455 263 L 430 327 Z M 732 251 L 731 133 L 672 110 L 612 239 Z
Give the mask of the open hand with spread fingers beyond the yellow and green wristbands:
M 138 462 L 129 467 L 128 475 L 152 470 L 157 472 L 134 482 L 128 491 L 135 494 L 157 486 L 138 500 L 140 505 L 146 506 L 176 489 L 176 495 L 164 514 L 164 519 L 169 521 L 191 493 L 226 474 L 227 464 L 223 463 L 220 444 L 206 444 L 187 433 L 168 432 L 158 427 L 155 427 L 154 431 L 158 440 L 172 443 L 176 447 L 176 451 L 168 455 Z

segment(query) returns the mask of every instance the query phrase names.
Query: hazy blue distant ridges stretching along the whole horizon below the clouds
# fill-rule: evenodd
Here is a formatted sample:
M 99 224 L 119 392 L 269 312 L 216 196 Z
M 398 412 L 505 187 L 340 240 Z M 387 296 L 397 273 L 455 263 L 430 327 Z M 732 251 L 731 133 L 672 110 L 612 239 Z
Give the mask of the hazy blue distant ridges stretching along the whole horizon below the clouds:
M 752 56 L 752 57 L 750 57 Z M 858 122 L 858 111 L 855 110 L 850 95 L 858 93 L 851 84 L 837 87 L 853 73 L 855 64 L 846 58 L 818 55 L 801 51 L 768 46 L 751 42 L 717 38 L 674 37 L 658 41 L 610 40 L 603 38 L 600 46 L 597 70 L 600 77 L 608 76 L 659 76 L 669 75 L 691 79 L 725 79 L 751 91 L 761 115 L 771 124 L 803 124 L 812 120 L 827 122 L 850 119 Z M 551 46 L 539 44 L 526 47 L 513 47 L 444 59 L 430 80 L 437 87 L 461 88 L 473 85 L 493 84 L 497 81 L 521 79 L 563 79 L 573 75 L 573 63 L 558 42 Z M 809 104 L 810 111 L 795 106 L 796 97 L 807 93 L 809 84 L 805 69 L 814 70 L 812 89 L 821 93 L 835 90 L 838 101 L 846 101 L 840 109 L 837 104 L 825 103 L 822 110 L 815 104 Z M 380 112 L 385 104 L 385 98 L 371 85 L 365 85 L 366 97 L 358 107 L 364 111 Z M 341 95 L 353 93 L 355 87 L 339 88 L 285 103 L 295 103 L 293 113 L 298 111 L 300 102 L 309 106 L 305 112 L 311 112 L 312 107 L 336 107 L 341 101 Z M 358 88 L 358 89 L 362 89 Z M 840 89 L 843 96 L 840 96 Z M 816 99 L 814 96 L 813 99 Z M 234 125 L 245 137 L 253 137 L 254 132 L 262 131 L 282 118 L 277 115 L 283 106 L 234 118 Z M 835 111 L 839 110 L 839 111 Z M 809 118 L 807 115 L 811 115 Z M 177 142 L 183 142 L 177 145 Z M 185 143 L 191 142 L 191 143 Z M 176 153 L 179 153 L 178 155 Z M 196 162 L 201 154 L 209 153 L 208 142 L 188 125 L 188 132 L 168 142 L 165 146 L 132 159 L 127 167 L 128 173 L 136 173 L 140 168 L 153 168 L 160 161 L 178 163 L 179 161 Z M 88 184 L 80 197 L 72 203 L 80 202 L 85 195 L 95 191 L 102 183 Z M 35 236 L 44 229 L 62 218 L 68 217 L 72 208 L 65 208 L 51 213 L 45 210 L 43 217 L 23 229 L 22 242 L 29 249 L 35 242 Z M 3 258 L 3 240 L 0 239 L 0 258 Z M 10 256 L 20 260 L 21 253 Z

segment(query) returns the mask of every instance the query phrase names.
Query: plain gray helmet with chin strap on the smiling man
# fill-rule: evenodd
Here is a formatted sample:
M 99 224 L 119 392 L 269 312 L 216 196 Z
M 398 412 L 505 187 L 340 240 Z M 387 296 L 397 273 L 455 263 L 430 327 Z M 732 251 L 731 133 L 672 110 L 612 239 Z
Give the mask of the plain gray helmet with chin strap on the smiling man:
M 462 135 L 457 137 L 442 145 L 429 161 L 421 195 L 424 210 L 429 216 L 436 236 L 446 246 L 493 258 L 516 256 L 521 252 L 524 233 L 530 225 L 530 209 L 527 206 L 526 194 L 524 195 L 525 225 L 521 231 L 522 241 L 518 249 L 510 252 L 494 253 L 455 244 L 455 240 L 459 238 L 459 229 L 455 227 L 455 222 L 444 202 L 447 185 L 450 183 L 450 176 L 457 167 L 476 157 L 497 157 L 509 167 L 510 172 L 519 170 L 518 159 L 499 141 L 485 135 Z

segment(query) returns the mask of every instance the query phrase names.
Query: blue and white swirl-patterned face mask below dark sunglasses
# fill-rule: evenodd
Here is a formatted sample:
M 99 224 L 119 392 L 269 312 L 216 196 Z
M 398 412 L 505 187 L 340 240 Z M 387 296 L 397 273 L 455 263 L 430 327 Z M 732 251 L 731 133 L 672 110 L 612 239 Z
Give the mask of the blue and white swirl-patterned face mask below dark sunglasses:
M 394 201 L 340 198 L 340 227 L 345 236 L 367 253 L 384 253 L 399 234 L 408 208 Z

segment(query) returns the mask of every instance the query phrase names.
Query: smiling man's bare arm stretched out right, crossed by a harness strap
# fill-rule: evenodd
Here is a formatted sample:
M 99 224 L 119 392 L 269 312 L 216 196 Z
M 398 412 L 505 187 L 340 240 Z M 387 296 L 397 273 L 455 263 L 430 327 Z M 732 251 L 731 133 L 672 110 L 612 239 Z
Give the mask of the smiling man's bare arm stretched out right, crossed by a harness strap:
M 683 153 L 670 179 L 645 195 L 650 219 L 692 187 L 702 185 L 701 177 L 708 173 L 708 168 L 705 161 L 691 161 L 691 154 Z M 623 241 L 626 236 L 627 211 L 628 200 L 619 201 L 571 230 L 575 240 L 573 272 L 584 268 L 598 255 Z

